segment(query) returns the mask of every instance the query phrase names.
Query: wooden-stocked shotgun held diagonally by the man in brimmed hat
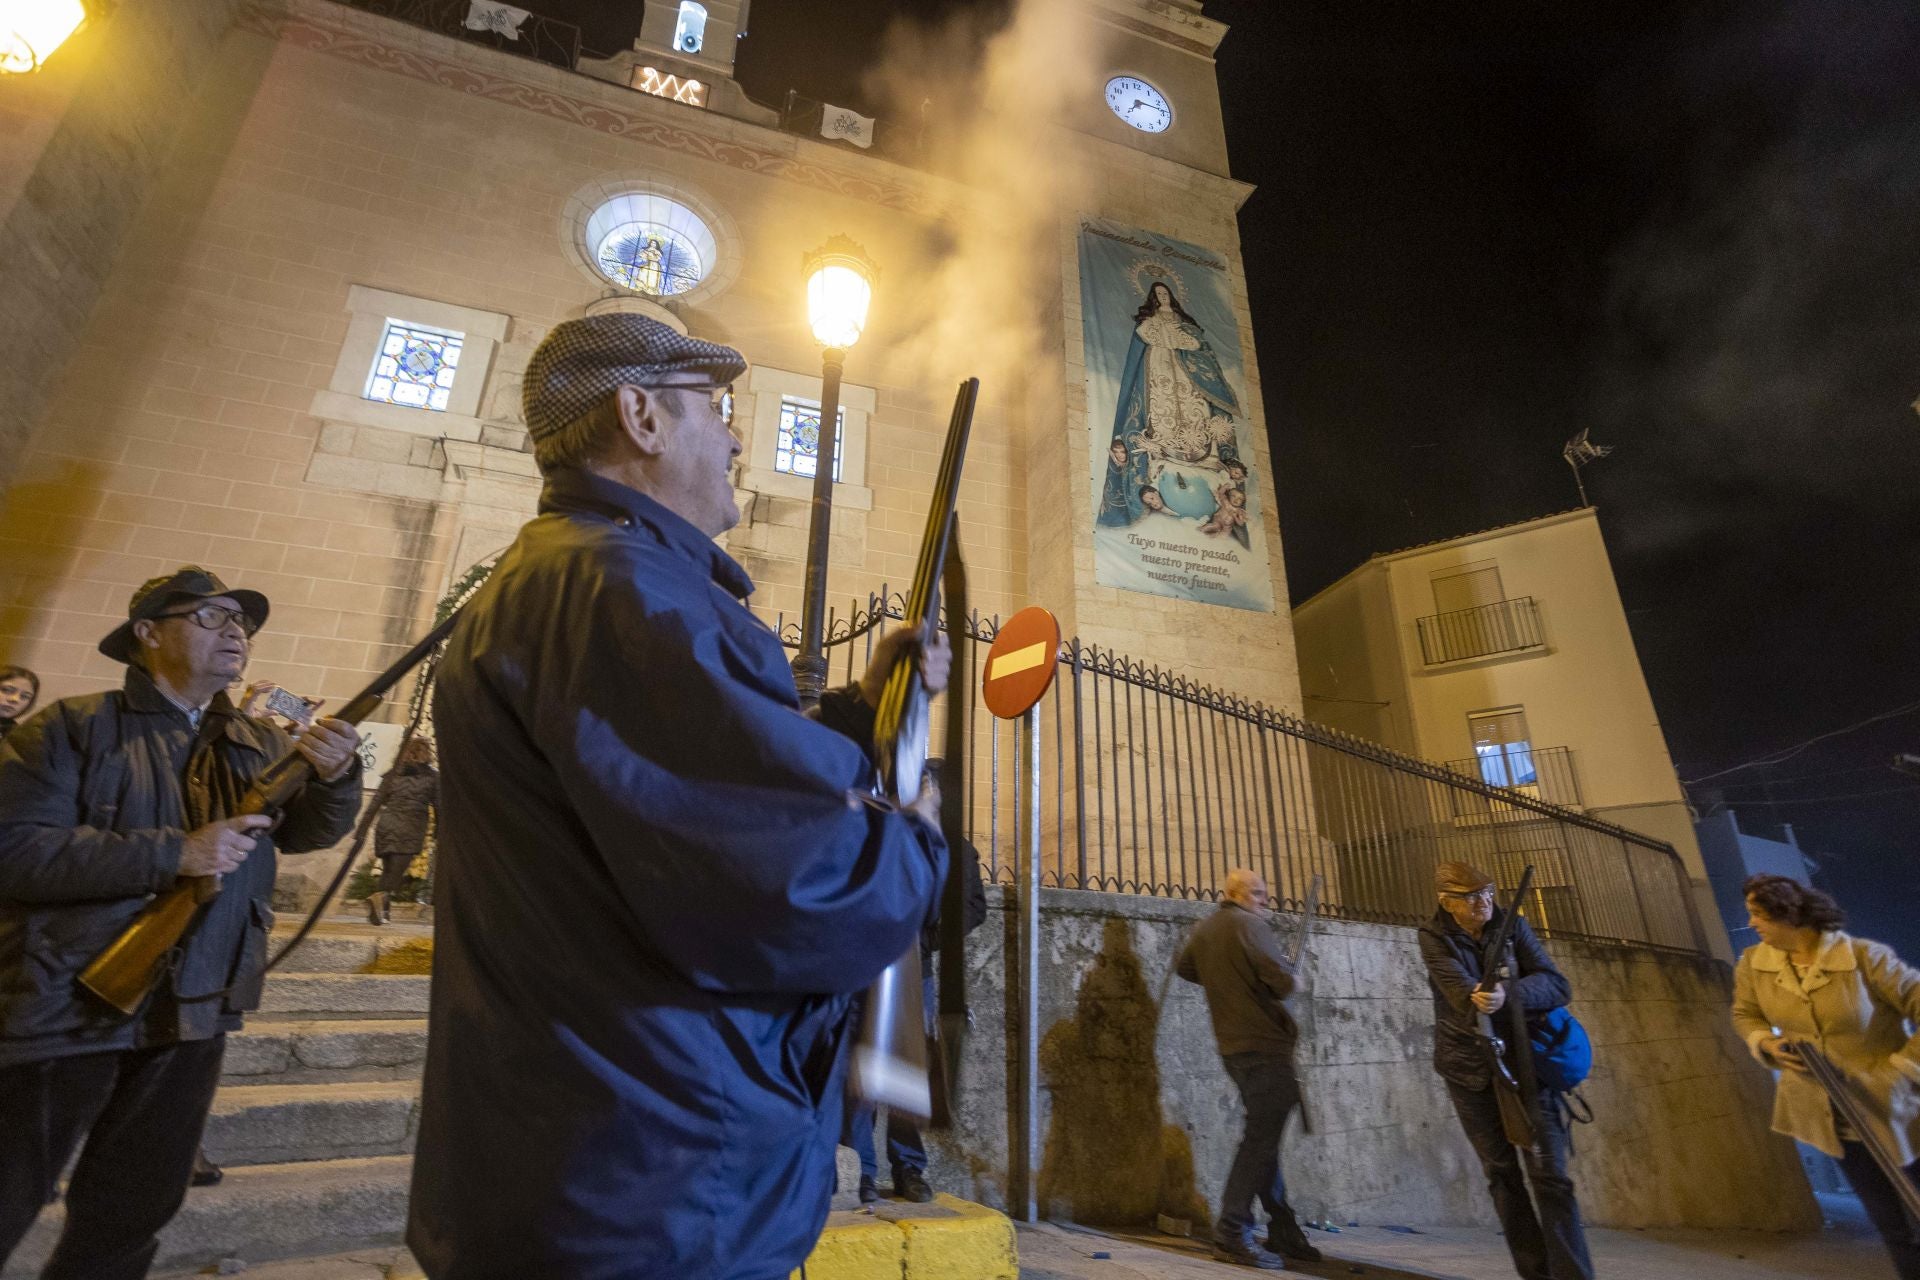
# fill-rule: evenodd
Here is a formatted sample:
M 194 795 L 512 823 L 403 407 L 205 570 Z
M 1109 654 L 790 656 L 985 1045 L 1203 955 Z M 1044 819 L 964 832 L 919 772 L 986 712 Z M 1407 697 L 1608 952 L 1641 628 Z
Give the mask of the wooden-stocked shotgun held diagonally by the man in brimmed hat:
M 371 685 L 340 708 L 334 720 L 357 725 L 371 716 L 386 691 L 447 637 L 459 616 L 459 610 L 447 614 L 447 620 L 428 631 L 426 639 L 401 654 L 399 662 L 380 672 Z M 309 781 L 313 781 L 313 766 L 298 748 L 292 748 L 259 771 L 227 818 L 271 814 L 278 823 L 280 814 Z M 92 963 L 81 971 L 81 986 L 121 1013 L 136 1013 L 167 973 L 167 956 L 180 944 L 200 908 L 219 892 L 221 877 L 217 875 L 182 875 L 173 889 L 148 902 L 104 952 L 94 956 Z

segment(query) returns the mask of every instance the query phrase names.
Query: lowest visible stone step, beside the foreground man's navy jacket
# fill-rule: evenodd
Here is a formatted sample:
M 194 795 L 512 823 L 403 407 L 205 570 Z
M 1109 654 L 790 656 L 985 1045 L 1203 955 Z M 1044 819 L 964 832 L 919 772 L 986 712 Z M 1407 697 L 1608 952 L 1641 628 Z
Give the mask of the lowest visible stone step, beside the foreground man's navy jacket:
M 194 1188 L 159 1236 L 156 1270 L 259 1263 L 369 1245 L 397 1245 L 407 1226 L 409 1155 L 242 1165 L 219 1186 Z M 13 1251 L 0 1280 L 36 1276 L 60 1238 L 60 1205 Z

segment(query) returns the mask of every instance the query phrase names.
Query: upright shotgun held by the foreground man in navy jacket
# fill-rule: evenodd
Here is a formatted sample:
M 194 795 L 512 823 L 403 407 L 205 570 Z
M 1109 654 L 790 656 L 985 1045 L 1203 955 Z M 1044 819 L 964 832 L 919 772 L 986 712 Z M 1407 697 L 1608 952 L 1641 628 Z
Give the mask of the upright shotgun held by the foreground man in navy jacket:
M 947 424 L 947 447 L 933 480 L 927 530 L 920 539 L 914 587 L 906 597 L 906 626 L 935 622 L 941 570 L 952 539 L 954 503 L 960 497 L 960 466 L 973 430 L 973 403 L 979 378 L 960 384 L 954 413 Z M 931 727 L 927 687 L 920 679 L 916 654 L 902 654 L 887 674 L 874 712 L 874 754 L 879 758 L 879 787 L 885 800 L 912 804 L 920 794 L 920 775 L 927 764 Z M 958 762 L 954 762 L 958 764 Z M 866 992 L 866 1015 L 852 1046 L 852 1088 L 862 1100 L 904 1115 L 933 1115 L 927 1080 L 927 1015 L 920 998 L 920 938 L 895 960 Z

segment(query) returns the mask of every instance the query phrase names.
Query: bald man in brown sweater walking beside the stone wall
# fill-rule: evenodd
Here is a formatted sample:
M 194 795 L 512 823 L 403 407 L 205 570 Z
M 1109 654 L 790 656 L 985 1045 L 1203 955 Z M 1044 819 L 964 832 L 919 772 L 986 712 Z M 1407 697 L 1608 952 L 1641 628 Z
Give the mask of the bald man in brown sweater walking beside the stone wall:
M 1319 1261 L 1281 1178 L 1281 1134 L 1300 1105 L 1294 1079 L 1294 1042 L 1300 1029 L 1286 1011 L 1294 967 L 1267 925 L 1267 883 L 1238 867 L 1227 875 L 1219 910 L 1194 927 L 1175 971 L 1206 990 L 1213 1015 L 1213 1040 L 1221 1063 L 1240 1090 L 1246 1132 L 1227 1171 L 1219 1217 L 1213 1221 L 1213 1257 L 1240 1267 L 1284 1270 L 1286 1259 Z M 1254 1244 L 1254 1197 L 1267 1209 L 1265 1247 Z M 1283 1257 L 1284 1255 L 1284 1257 Z

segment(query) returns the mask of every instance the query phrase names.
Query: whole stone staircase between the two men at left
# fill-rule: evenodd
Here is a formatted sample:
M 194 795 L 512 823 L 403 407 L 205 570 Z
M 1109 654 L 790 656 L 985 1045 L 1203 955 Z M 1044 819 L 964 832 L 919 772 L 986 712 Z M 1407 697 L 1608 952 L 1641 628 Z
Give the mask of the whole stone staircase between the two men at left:
M 161 1234 L 156 1272 L 397 1245 L 426 1057 L 424 925 L 332 921 L 267 981 L 228 1036 L 207 1117 L 219 1186 L 194 1188 Z M 275 946 L 282 936 L 275 938 Z M 42 1213 L 4 1280 L 38 1274 L 61 1209 Z

